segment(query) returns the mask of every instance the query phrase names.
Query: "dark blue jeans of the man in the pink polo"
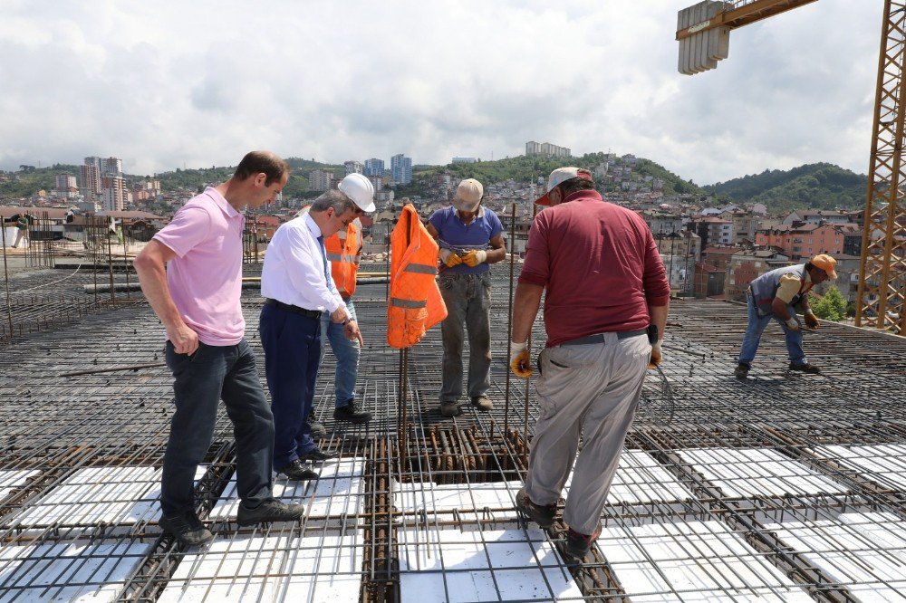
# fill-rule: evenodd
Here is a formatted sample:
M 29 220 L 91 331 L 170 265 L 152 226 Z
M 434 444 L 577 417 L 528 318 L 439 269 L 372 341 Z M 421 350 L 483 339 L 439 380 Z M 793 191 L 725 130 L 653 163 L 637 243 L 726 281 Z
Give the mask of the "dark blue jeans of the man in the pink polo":
M 247 507 L 271 495 L 274 416 L 246 340 L 235 346 L 198 345 L 191 356 L 177 354 L 167 342 L 167 366 L 173 371 L 176 413 L 170 424 L 160 484 L 164 515 L 195 510 L 195 471 L 207 454 L 220 399 L 233 421 L 236 437 L 236 490 Z

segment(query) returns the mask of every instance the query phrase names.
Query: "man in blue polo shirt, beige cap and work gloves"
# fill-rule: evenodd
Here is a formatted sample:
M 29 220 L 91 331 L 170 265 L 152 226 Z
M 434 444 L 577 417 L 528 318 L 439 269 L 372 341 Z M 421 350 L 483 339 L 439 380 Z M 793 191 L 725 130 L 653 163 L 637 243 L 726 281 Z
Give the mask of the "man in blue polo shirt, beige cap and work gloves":
M 467 395 L 479 410 L 494 407 L 487 397 L 491 387 L 491 276 L 487 264 L 503 260 L 506 247 L 500 219 L 481 206 L 483 195 L 480 182 L 463 180 L 453 205 L 434 212 L 428 224 L 428 232 L 440 246 L 440 294 L 448 312 L 440 325 L 444 343 L 439 396 L 443 416 L 460 412 L 463 323 L 468 333 Z

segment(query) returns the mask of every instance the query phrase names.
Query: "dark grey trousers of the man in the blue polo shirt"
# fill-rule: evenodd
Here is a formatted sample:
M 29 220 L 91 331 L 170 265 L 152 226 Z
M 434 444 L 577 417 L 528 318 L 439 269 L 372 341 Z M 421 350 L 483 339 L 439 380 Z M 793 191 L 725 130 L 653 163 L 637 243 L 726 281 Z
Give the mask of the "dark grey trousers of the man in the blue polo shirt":
M 458 402 L 462 396 L 463 323 L 468 331 L 468 397 L 484 396 L 491 388 L 491 275 L 440 275 L 440 294 L 447 318 L 440 323 L 444 340 L 440 401 Z

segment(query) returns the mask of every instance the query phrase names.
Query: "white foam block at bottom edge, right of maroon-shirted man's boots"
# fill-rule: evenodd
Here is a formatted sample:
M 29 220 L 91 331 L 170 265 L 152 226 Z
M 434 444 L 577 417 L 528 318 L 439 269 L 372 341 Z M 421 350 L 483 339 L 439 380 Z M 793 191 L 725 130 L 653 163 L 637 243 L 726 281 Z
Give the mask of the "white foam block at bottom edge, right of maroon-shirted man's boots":
M 811 601 L 721 522 L 608 527 L 597 541 L 633 601 Z

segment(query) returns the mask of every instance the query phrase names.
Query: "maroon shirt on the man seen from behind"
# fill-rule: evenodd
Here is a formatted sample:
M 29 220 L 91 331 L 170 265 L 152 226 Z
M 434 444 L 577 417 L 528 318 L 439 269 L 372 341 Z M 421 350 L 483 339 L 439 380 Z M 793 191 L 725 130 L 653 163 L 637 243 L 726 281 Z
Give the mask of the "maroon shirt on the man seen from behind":
M 593 190 L 535 216 L 519 282 L 544 286 L 547 347 L 586 335 L 648 327 L 670 285 L 641 216 Z

